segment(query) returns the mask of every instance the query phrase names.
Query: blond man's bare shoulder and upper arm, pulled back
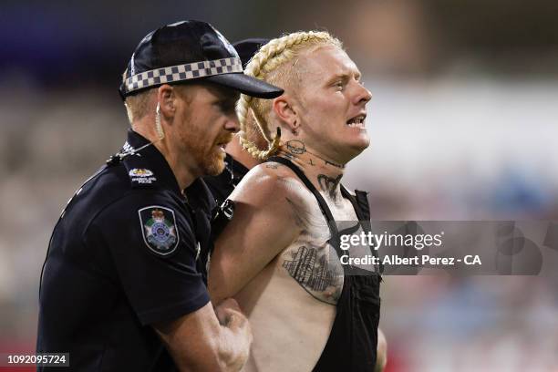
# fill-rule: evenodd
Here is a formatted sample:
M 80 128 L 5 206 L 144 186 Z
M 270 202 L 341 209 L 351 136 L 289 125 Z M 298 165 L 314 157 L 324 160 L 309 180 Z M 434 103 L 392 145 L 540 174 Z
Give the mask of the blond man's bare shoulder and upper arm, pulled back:
M 294 241 L 300 226 L 292 203 L 298 182 L 256 167 L 233 192 L 234 217 L 215 243 L 209 272 L 213 301 L 237 294 Z

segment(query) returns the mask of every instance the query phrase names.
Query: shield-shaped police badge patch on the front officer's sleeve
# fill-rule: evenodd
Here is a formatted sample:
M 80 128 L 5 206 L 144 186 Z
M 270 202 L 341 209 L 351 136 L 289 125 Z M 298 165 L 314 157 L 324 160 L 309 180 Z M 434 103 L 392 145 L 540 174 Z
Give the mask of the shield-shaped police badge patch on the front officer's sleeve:
M 159 205 L 141 208 L 140 225 L 143 241 L 153 253 L 165 256 L 178 247 L 179 233 L 174 211 Z

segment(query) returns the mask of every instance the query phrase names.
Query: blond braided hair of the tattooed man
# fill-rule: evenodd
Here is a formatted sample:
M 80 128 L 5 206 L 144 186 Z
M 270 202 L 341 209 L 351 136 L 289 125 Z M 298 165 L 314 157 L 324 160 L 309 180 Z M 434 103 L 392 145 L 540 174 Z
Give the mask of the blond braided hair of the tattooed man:
M 295 88 L 296 82 L 300 79 L 299 73 L 301 73 L 295 67 L 297 57 L 301 56 L 303 52 L 323 46 L 342 48 L 338 39 L 324 31 L 295 32 L 272 39 L 252 57 L 244 73 L 282 88 Z M 280 146 L 280 132 L 277 131 L 272 138 L 272 131 L 269 128 L 272 102 L 271 99 L 242 95 L 236 106 L 243 149 L 258 160 L 267 159 L 279 150 Z M 252 140 L 246 138 L 247 121 L 252 115 L 263 138 L 268 143 L 267 150 L 259 150 Z

